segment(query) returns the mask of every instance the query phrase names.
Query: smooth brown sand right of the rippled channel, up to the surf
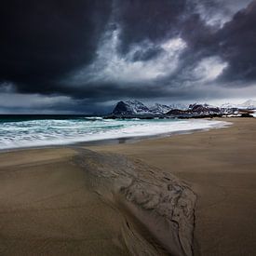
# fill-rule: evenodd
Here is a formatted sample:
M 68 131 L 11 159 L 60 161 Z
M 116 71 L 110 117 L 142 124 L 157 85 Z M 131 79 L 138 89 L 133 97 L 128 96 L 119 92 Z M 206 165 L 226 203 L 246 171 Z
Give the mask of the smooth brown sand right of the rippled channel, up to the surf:
M 190 182 L 195 255 L 255 255 L 256 119 L 221 120 L 233 126 L 91 149 L 138 158 Z

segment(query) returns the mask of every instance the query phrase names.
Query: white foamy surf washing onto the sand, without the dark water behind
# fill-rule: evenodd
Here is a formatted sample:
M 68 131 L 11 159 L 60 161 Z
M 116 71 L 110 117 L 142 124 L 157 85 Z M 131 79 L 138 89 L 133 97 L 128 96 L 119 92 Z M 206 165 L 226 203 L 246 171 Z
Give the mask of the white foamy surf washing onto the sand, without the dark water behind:
M 31 123 L 28 125 L 26 122 L 24 124 L 23 122 L 18 122 L 19 125 L 17 127 L 15 125 L 14 127 L 12 127 L 13 125 L 11 127 L 4 126 L 3 130 L 0 129 L 0 132 L 3 133 L 3 138 L 0 141 L 0 152 L 76 144 L 90 146 L 94 144 L 138 141 L 152 137 L 165 137 L 171 134 L 195 132 L 196 130 L 222 128 L 229 125 L 227 122 L 215 121 L 213 119 L 176 119 L 153 123 L 152 121 L 145 122 L 143 120 L 134 123 L 112 120 L 111 122 L 96 122 L 96 124 L 94 122 L 84 122 L 82 125 L 80 125 L 80 122 L 76 123 L 75 121 L 74 123 L 64 122 L 65 125 L 62 123 L 55 124 L 54 122 L 50 122 L 47 125 Z M 34 126 L 35 129 L 33 128 Z M 38 126 L 44 127 L 43 130 L 39 129 L 39 133 L 37 133 Z M 49 126 L 53 126 L 53 130 Z M 116 127 L 117 129 L 115 129 Z M 21 132 L 19 131 L 20 128 Z M 60 131 L 58 128 L 60 128 Z M 28 134 L 25 132 L 26 129 L 30 131 Z M 19 131 L 18 133 L 17 130 Z

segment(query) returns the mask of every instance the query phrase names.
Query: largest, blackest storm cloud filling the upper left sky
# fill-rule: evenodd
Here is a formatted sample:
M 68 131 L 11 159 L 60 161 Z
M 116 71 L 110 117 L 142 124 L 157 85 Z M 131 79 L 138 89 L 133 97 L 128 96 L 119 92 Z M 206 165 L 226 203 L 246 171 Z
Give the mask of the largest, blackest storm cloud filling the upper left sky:
M 1 3 L 0 79 L 54 91 L 53 81 L 92 61 L 110 13 L 109 0 Z

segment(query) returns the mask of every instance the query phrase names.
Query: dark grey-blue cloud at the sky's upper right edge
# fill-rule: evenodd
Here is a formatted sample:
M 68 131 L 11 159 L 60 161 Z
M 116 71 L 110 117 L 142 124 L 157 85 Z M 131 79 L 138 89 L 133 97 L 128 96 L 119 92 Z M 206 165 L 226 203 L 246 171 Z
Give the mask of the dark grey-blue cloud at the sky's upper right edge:
M 227 81 L 256 80 L 256 1 L 236 13 L 218 34 L 222 59 L 229 67 L 222 75 Z

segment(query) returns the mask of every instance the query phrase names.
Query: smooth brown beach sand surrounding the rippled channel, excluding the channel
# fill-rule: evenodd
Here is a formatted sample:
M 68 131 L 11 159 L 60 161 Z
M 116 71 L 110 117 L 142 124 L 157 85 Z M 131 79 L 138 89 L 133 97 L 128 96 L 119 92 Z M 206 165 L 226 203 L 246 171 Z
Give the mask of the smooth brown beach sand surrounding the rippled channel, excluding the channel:
M 252 254 L 256 249 L 256 144 L 253 141 L 256 120 L 227 118 L 226 121 L 232 122 L 233 126 L 132 143 L 75 144 L 1 153 L 1 209 L 6 210 L 6 213 L 5 210 L 1 212 L 2 236 L 5 237 L 0 239 L 1 248 L 7 249 L 19 241 L 13 249 L 19 249 L 21 245 L 23 249 L 30 249 L 28 241 L 19 240 L 24 232 L 28 236 L 35 235 L 34 249 L 39 246 L 44 252 L 53 249 L 65 254 L 76 244 L 77 254 L 85 252 L 85 246 L 96 254 L 128 253 L 116 238 L 120 236 L 119 227 L 123 225 L 123 217 L 92 193 L 87 188 L 88 177 L 85 173 L 70 164 L 74 146 L 100 154 L 127 155 L 132 161 L 138 159 L 189 183 L 197 195 L 195 255 Z M 28 189 L 26 185 L 32 184 L 33 187 Z M 21 213 L 20 201 L 25 202 L 21 205 L 21 209 L 24 209 Z M 88 213 L 86 208 L 90 203 L 94 211 Z M 59 210 L 53 209 L 55 204 Z M 26 207 L 30 211 L 25 211 Z M 67 212 L 64 212 L 65 207 L 68 207 Z M 40 208 L 45 211 L 34 216 L 31 209 L 37 212 L 36 209 Z M 7 209 L 16 211 L 11 215 Z M 101 216 L 102 209 L 106 212 L 105 217 Z M 30 222 L 32 217 L 34 229 L 21 223 L 24 220 Z M 16 219 L 18 226 L 12 225 L 12 218 Z M 108 222 L 113 218 L 115 221 L 109 226 Z M 67 222 L 70 224 L 67 225 Z M 44 226 L 46 223 L 52 223 L 53 229 Z M 91 230 L 88 232 L 88 229 Z M 94 242 L 88 238 L 85 242 L 85 236 L 92 236 L 93 229 Z M 109 232 L 113 236 L 104 240 L 102 237 L 107 237 Z M 43 236 L 47 236 L 48 241 L 44 241 L 45 247 L 42 248 L 39 241 Z M 66 243 L 64 248 L 60 245 L 62 240 Z M 105 241 L 105 251 L 101 247 L 98 250 L 95 248 L 102 241 Z

